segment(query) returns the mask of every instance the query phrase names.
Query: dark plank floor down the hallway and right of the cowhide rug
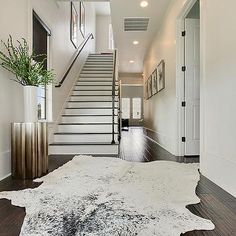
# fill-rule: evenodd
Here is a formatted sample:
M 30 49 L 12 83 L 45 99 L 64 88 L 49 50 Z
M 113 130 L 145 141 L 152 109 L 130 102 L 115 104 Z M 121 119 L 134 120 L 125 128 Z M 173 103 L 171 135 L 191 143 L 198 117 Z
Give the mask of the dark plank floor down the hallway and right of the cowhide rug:
M 168 160 L 184 163 L 198 162 L 199 158 L 176 157 L 145 136 L 142 128 L 130 128 L 122 132 L 120 158 L 127 161 Z M 236 236 L 236 199 L 201 175 L 196 193 L 201 203 L 187 208 L 195 215 L 210 219 L 213 231 L 193 231 L 186 236 Z

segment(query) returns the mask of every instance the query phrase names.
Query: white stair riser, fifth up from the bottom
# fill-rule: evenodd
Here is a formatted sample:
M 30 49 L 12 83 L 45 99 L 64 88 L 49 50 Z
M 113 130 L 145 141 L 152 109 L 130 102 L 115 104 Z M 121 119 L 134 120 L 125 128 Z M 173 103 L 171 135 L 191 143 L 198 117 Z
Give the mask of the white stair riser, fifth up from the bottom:
M 66 115 L 112 115 L 112 109 L 66 109 Z M 115 109 L 117 115 L 117 109 Z

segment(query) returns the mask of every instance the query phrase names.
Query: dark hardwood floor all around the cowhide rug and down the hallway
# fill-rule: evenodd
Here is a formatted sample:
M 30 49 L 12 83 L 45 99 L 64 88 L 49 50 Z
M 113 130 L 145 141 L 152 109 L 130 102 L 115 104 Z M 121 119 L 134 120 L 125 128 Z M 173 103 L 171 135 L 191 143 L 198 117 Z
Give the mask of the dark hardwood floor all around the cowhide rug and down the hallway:
M 51 156 L 49 171 L 55 170 L 72 158 L 73 156 Z M 128 132 L 122 132 L 120 158 L 135 162 L 169 160 L 188 163 L 198 161 L 198 158 L 171 155 L 148 139 L 142 128 L 130 128 Z M 39 185 L 40 183 L 34 183 L 31 180 L 12 180 L 9 177 L 0 182 L 0 191 L 36 188 Z M 236 236 L 236 199 L 202 175 L 196 193 L 201 199 L 201 203 L 187 206 L 187 208 L 200 217 L 212 220 L 216 228 L 213 231 L 193 231 L 183 235 Z M 24 208 L 12 206 L 10 201 L 0 199 L 0 236 L 19 235 L 24 216 Z

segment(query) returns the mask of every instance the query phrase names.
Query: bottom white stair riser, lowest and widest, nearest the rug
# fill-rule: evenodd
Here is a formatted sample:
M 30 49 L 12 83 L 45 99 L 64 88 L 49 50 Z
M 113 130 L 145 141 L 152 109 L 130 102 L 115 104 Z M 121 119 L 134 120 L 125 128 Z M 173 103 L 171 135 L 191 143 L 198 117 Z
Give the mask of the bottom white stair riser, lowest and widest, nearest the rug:
M 70 155 L 70 154 L 117 155 L 118 145 L 49 146 L 49 155 Z

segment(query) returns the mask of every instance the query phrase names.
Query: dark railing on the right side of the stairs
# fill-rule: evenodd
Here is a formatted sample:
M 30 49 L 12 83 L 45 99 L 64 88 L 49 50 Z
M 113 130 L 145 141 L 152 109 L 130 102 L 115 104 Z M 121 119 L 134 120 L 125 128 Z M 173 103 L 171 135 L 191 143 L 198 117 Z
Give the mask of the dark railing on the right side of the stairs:
M 113 53 L 113 80 L 112 80 L 112 144 L 115 144 L 115 98 L 116 98 L 116 66 L 117 66 L 117 50 Z

